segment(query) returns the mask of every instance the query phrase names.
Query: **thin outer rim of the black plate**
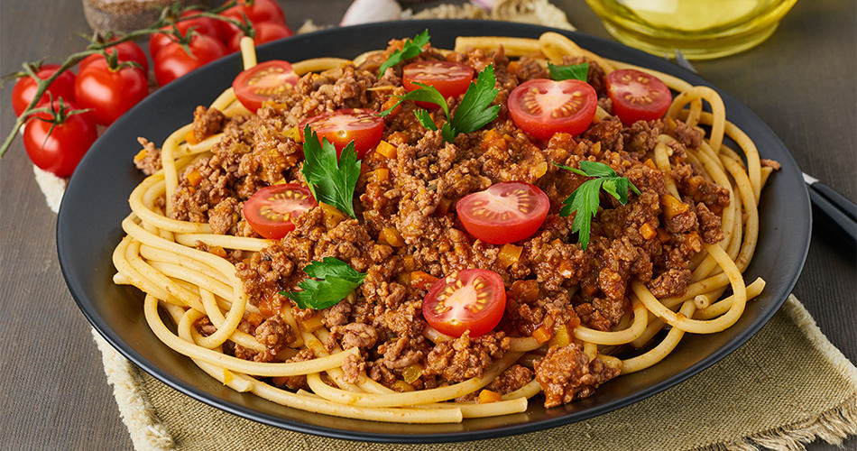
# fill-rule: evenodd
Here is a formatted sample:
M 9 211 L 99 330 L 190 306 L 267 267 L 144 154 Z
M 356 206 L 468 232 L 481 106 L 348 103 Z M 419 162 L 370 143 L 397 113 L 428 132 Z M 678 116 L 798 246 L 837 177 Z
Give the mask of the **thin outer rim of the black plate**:
M 634 56 L 636 58 L 642 58 L 642 59 L 647 59 L 647 60 L 652 60 L 652 59 L 657 60 L 658 59 L 657 56 L 650 55 L 649 53 L 645 53 L 643 51 L 639 51 L 639 50 L 633 49 L 631 47 L 624 46 L 619 42 L 610 41 L 610 40 L 607 40 L 607 39 L 604 39 L 601 37 L 593 36 L 590 34 L 585 34 L 582 32 L 570 32 L 567 30 L 551 28 L 551 27 L 546 27 L 546 26 L 536 25 L 536 24 L 529 24 L 529 23 L 498 23 L 496 21 L 488 21 L 488 20 L 427 19 L 427 20 L 394 21 L 391 23 L 364 23 L 364 24 L 360 24 L 360 25 L 354 25 L 354 26 L 348 26 L 348 27 L 336 27 L 336 28 L 332 28 L 332 29 L 320 30 L 317 32 L 309 32 L 309 33 L 305 33 L 305 34 L 299 34 L 299 35 L 296 35 L 294 37 L 287 38 L 285 40 L 273 41 L 273 42 L 263 44 L 263 45 L 259 46 L 259 49 L 264 50 L 266 48 L 274 48 L 274 47 L 280 45 L 281 42 L 283 42 L 283 41 L 312 40 L 314 36 L 317 36 L 319 34 L 340 33 L 340 32 L 344 32 L 344 33 L 361 32 L 364 30 L 371 30 L 371 29 L 376 29 L 376 28 L 383 29 L 385 27 L 392 27 L 392 26 L 395 26 L 395 25 L 401 24 L 401 23 L 407 23 L 407 24 L 413 26 L 414 28 L 426 27 L 429 29 L 432 26 L 450 27 L 450 26 L 456 26 L 456 24 L 460 25 L 460 26 L 466 26 L 467 24 L 479 24 L 480 26 L 488 26 L 489 28 L 499 27 L 499 28 L 502 28 L 504 30 L 509 30 L 509 31 L 517 30 L 521 33 L 530 33 L 531 32 L 532 34 L 536 34 L 538 32 L 548 32 L 548 31 L 549 32 L 558 32 L 558 33 L 564 34 L 567 37 L 570 37 L 572 39 L 574 39 L 576 37 L 585 37 L 585 39 L 587 39 L 587 40 L 592 40 L 592 41 L 597 42 L 597 44 L 599 46 L 603 45 L 607 48 L 614 48 L 617 51 L 630 53 L 629 56 Z M 466 29 L 464 29 L 464 30 L 466 30 Z M 462 33 L 462 35 L 473 35 L 473 34 Z M 583 47 L 585 48 L 585 46 L 583 46 Z M 221 60 L 217 60 L 217 61 L 214 61 L 212 63 L 209 63 L 207 66 L 217 65 L 218 63 L 224 64 L 225 60 L 238 60 L 238 59 L 240 59 L 240 55 L 233 54 L 233 55 L 228 56 L 226 58 L 223 58 Z M 746 109 L 747 112 L 750 113 L 750 115 L 758 121 L 758 126 L 760 126 L 760 128 L 762 129 L 762 132 L 769 134 L 769 136 L 773 137 L 781 145 L 781 147 L 786 151 L 786 155 L 788 155 L 788 161 L 785 162 L 784 166 L 788 165 L 788 166 L 791 166 L 791 167 L 797 169 L 798 171 L 800 170 L 799 167 L 797 166 L 797 161 L 794 160 L 794 157 L 791 155 L 791 152 L 788 151 L 788 147 L 785 145 L 785 143 L 782 143 L 782 141 L 779 139 L 779 135 L 777 133 L 774 133 L 774 131 L 770 129 L 769 125 L 767 123 L 765 123 L 759 117 L 759 115 L 756 115 L 751 110 L 751 108 L 749 106 L 744 105 L 741 101 L 739 101 L 735 97 L 732 97 L 729 93 L 723 91 L 722 89 L 720 89 L 718 87 L 715 87 L 714 85 L 712 85 L 711 83 L 706 81 L 704 78 L 701 78 L 699 75 L 697 75 L 693 72 L 690 72 L 687 69 L 683 69 L 683 68 L 680 68 L 678 66 L 671 67 L 670 69 L 672 69 L 673 72 L 677 72 L 677 74 L 671 74 L 671 75 L 675 75 L 678 78 L 682 78 L 685 80 L 693 81 L 694 84 L 702 84 L 702 85 L 714 88 L 714 90 L 717 91 L 721 97 L 723 97 L 723 102 L 727 106 L 738 106 L 739 108 Z M 188 84 L 189 80 L 192 81 L 194 78 L 204 77 L 206 73 L 207 73 L 206 67 L 203 67 L 198 71 L 197 74 L 189 75 L 188 79 L 184 80 L 184 84 Z M 177 84 L 176 86 L 179 86 L 179 85 Z M 173 87 L 173 88 L 176 88 L 176 87 Z M 143 102 L 141 102 L 141 105 L 144 102 L 150 102 L 150 101 L 154 102 L 156 100 L 159 100 L 159 97 L 156 97 L 156 96 L 147 97 L 146 99 L 143 100 Z M 132 112 L 133 112 L 133 109 L 132 109 Z M 120 118 L 119 121 L 117 121 L 117 123 L 119 123 L 120 121 L 124 122 L 124 120 L 128 119 L 129 116 L 131 116 L 131 115 L 124 115 L 124 117 Z M 113 127 L 114 130 L 116 130 L 118 128 L 119 127 Z M 112 133 L 110 133 L 110 131 L 111 130 L 108 129 L 107 132 L 104 133 L 104 135 L 102 137 L 99 137 L 99 141 L 101 141 L 101 139 L 104 136 L 112 135 Z M 94 146 L 95 145 L 97 145 L 97 143 L 94 144 Z M 89 157 L 92 157 L 92 154 L 93 154 L 93 152 L 88 152 L 88 154 L 84 157 L 83 161 L 81 161 L 81 164 L 86 164 L 86 162 L 90 159 Z M 75 172 L 75 174 L 78 174 L 78 172 Z M 67 189 L 72 188 L 72 187 L 77 187 L 77 185 L 79 183 L 82 183 L 82 182 L 76 183 L 76 180 L 77 180 L 77 178 L 75 177 L 75 175 L 72 175 L 71 179 L 69 180 L 69 185 L 67 186 Z M 66 197 L 65 196 L 63 197 L 63 202 L 60 204 L 60 211 L 59 211 L 59 214 L 57 216 L 57 223 L 56 223 L 56 240 L 57 241 L 56 241 L 56 243 L 57 243 L 57 253 L 58 253 L 59 260 L 60 260 L 60 271 L 62 272 L 63 279 L 66 281 L 66 284 L 69 287 L 69 291 L 72 295 L 72 298 L 75 300 L 75 303 L 78 305 L 78 309 L 87 318 L 90 325 L 92 327 L 94 327 L 95 330 L 97 330 L 98 334 L 100 336 L 104 337 L 106 339 L 106 341 L 111 346 L 113 346 L 117 352 L 119 352 L 120 354 L 123 354 L 124 357 L 128 358 L 135 365 L 137 365 L 138 367 L 143 369 L 143 371 L 145 371 L 146 373 L 149 373 L 150 375 L 152 375 L 152 377 L 159 380 L 160 382 L 167 384 L 172 389 L 180 391 L 181 393 L 188 395 L 189 397 L 191 397 L 194 400 L 199 400 L 199 401 L 201 401 L 201 402 L 203 402 L 203 403 L 205 403 L 211 407 L 214 407 L 218 410 L 224 410 L 226 412 L 237 415 L 237 416 L 242 417 L 244 419 L 251 419 L 253 421 L 260 422 L 260 423 L 263 423 L 263 424 L 266 424 L 266 425 L 269 425 L 272 427 L 285 428 L 288 430 L 293 430 L 293 431 L 302 432 L 302 433 L 308 433 L 308 434 L 317 435 L 317 436 L 321 436 L 321 437 L 332 437 L 332 438 L 339 438 L 339 439 L 346 439 L 346 440 L 357 440 L 357 441 L 371 441 L 371 442 L 379 442 L 379 443 L 419 443 L 419 444 L 423 444 L 423 443 L 449 443 L 449 442 L 459 442 L 459 441 L 465 441 L 465 440 L 481 440 L 481 439 L 494 438 L 494 437 L 507 437 L 507 436 L 517 435 L 517 434 L 522 434 L 522 433 L 527 433 L 527 432 L 535 432 L 535 431 L 543 430 L 546 428 L 555 428 L 558 426 L 571 424 L 571 423 L 581 421 L 584 419 L 591 419 L 591 418 L 603 415 L 604 413 L 607 413 L 609 411 L 617 410 L 617 409 L 620 409 L 622 407 L 628 406 L 632 403 L 635 403 L 635 402 L 638 402 L 640 400 L 644 400 L 646 398 L 649 398 L 650 396 L 657 394 L 660 391 L 665 391 L 668 388 L 671 388 L 671 387 L 677 385 L 678 383 L 683 382 L 683 381 L 687 380 L 688 378 L 704 371 L 706 368 L 709 368 L 713 364 L 722 360 L 725 356 L 732 354 L 733 351 L 735 351 L 736 349 L 738 349 L 739 347 L 744 345 L 751 338 L 751 336 L 754 336 L 760 330 L 761 327 L 764 327 L 769 322 L 769 319 L 772 318 L 773 315 L 777 311 L 779 311 L 779 308 L 781 308 L 783 303 L 786 301 L 786 299 L 788 299 L 789 293 L 791 293 L 791 291 L 794 289 L 794 286 L 797 283 L 797 279 L 803 270 L 803 267 L 806 263 L 806 256 L 807 256 L 807 253 L 809 251 L 809 245 L 810 245 L 811 233 L 812 233 L 812 214 L 811 214 L 809 195 L 808 195 L 808 192 L 806 191 L 806 186 L 804 186 L 804 189 L 802 190 L 802 195 L 803 195 L 802 199 L 798 199 L 799 201 L 796 200 L 796 203 L 806 211 L 806 213 L 807 213 L 806 218 L 807 218 L 808 222 L 807 222 L 807 226 L 806 226 L 806 235 L 801 237 L 804 239 L 804 243 L 803 243 L 801 249 L 799 250 L 800 251 L 799 254 L 801 255 L 801 257 L 800 257 L 799 262 L 797 262 L 797 272 L 794 274 L 794 277 L 792 277 L 790 279 L 790 281 L 788 281 L 788 283 L 786 285 L 784 285 L 784 287 L 786 287 L 786 289 L 785 290 L 780 289 L 785 294 L 782 296 L 779 296 L 775 299 L 772 299 L 773 302 L 771 303 L 769 308 L 767 310 L 765 310 L 760 315 L 760 318 L 757 318 L 755 320 L 755 322 L 751 323 L 750 327 L 747 327 L 746 329 L 742 330 L 742 332 L 740 332 L 737 336 L 735 336 L 732 339 L 732 341 L 729 342 L 727 345 L 721 346 L 716 351 L 714 351 L 714 353 L 709 354 L 707 357 L 700 360 L 696 364 L 689 366 L 686 370 L 684 370 L 680 373 L 677 373 L 676 375 L 674 375 L 672 377 L 668 377 L 667 379 L 662 380 L 662 381 L 656 383 L 655 385 L 653 385 L 649 388 L 645 388 L 645 389 L 642 389 L 640 391 L 636 391 L 633 394 L 626 396 L 624 398 L 621 398 L 618 400 L 613 400 L 613 401 L 607 401 L 602 405 L 595 406 L 593 408 L 588 408 L 588 409 L 583 410 L 581 412 L 568 413 L 568 414 L 564 414 L 564 415 L 554 417 L 554 418 L 527 421 L 527 422 L 520 423 L 520 424 L 512 424 L 512 425 L 502 426 L 501 428 L 487 428 L 487 429 L 480 429 L 480 430 L 475 430 L 475 431 L 419 433 L 419 434 L 388 434 L 388 433 L 379 433 L 379 432 L 355 431 L 352 429 L 328 428 L 328 427 L 313 425 L 313 424 L 309 424 L 309 423 L 297 422 L 297 421 L 285 419 L 282 417 L 272 416 L 272 415 L 269 415 L 269 414 L 264 413 L 264 412 L 259 411 L 259 410 L 253 410 L 249 407 L 235 405 L 234 403 L 232 403 L 230 401 L 221 400 L 221 399 L 218 399 L 217 397 L 211 396 L 207 392 L 198 389 L 194 385 L 183 382 L 180 379 L 171 376 L 170 374 L 163 373 L 160 368 L 158 368 L 156 365 L 147 361 L 145 358 L 143 358 L 143 356 L 141 354 L 138 354 L 132 345 L 125 343 L 124 340 L 122 340 L 116 334 L 115 330 L 112 327 L 110 327 L 109 324 L 107 324 L 107 322 L 104 318 L 98 317 L 94 314 L 94 312 L 88 310 L 88 308 L 87 308 L 88 301 L 86 299 L 82 299 L 83 296 L 80 294 L 80 293 L 84 292 L 84 289 L 80 286 L 80 284 L 78 283 L 77 280 L 75 280 L 73 277 L 71 277 L 71 275 L 69 273 L 70 272 L 70 269 L 69 269 L 70 266 L 69 265 L 74 264 L 74 262 L 70 262 L 68 260 L 69 257 L 67 255 L 67 253 L 64 252 L 64 248 L 62 245 L 66 239 L 66 237 L 64 235 L 65 234 L 64 225 L 65 225 L 65 221 L 68 220 L 67 219 L 68 215 L 64 214 L 64 212 L 66 212 L 67 210 L 63 208 L 66 205 L 66 201 L 65 201 Z M 283 406 L 283 407 L 285 409 L 290 409 L 290 408 L 285 407 L 285 406 Z M 330 417 L 330 418 L 335 419 L 336 417 Z

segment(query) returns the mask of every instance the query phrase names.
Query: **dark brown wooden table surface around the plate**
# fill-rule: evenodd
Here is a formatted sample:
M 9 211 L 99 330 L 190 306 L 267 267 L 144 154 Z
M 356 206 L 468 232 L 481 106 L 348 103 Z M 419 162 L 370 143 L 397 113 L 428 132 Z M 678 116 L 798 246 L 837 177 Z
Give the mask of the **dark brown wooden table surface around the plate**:
M 350 0 L 282 1 L 290 25 L 336 23 Z M 430 2 L 436 5 L 439 2 Z M 583 0 L 555 0 L 581 32 L 608 37 Z M 779 30 L 740 55 L 696 63 L 699 74 L 750 106 L 801 169 L 857 199 L 857 4 L 797 2 Z M 3 0 L 0 74 L 24 60 L 62 60 L 84 47 L 78 1 Z M 0 131 L 14 123 L 12 83 L 0 96 Z M 847 237 L 815 216 L 795 293 L 826 336 L 857 362 L 857 272 Z M 18 140 L 0 161 L 0 450 L 132 449 L 106 384 L 87 320 L 60 275 L 56 216 L 45 205 Z M 788 245 L 784 243 L 783 245 Z M 852 438 L 846 446 L 857 448 Z M 836 449 L 813 444 L 810 449 Z

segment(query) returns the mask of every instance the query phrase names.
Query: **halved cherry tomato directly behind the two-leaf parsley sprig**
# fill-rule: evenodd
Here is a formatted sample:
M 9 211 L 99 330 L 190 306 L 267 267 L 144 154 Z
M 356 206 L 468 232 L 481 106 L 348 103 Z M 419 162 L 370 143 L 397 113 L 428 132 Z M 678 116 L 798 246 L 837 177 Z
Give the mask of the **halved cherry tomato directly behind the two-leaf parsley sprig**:
M 444 98 L 457 97 L 465 93 L 473 79 L 474 70 L 470 66 L 451 61 L 412 62 L 401 70 L 402 86 L 409 91 L 419 89 L 414 82 L 423 83 L 438 89 Z M 417 102 L 425 108 L 437 108 L 435 104 Z

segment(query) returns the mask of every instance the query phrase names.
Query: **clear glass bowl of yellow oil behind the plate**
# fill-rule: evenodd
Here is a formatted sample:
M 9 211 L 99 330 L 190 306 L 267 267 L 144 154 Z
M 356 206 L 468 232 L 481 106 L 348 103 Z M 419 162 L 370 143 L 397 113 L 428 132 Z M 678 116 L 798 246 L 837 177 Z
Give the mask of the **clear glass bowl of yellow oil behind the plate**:
M 796 0 L 586 0 L 614 37 L 658 55 L 703 60 L 767 39 Z

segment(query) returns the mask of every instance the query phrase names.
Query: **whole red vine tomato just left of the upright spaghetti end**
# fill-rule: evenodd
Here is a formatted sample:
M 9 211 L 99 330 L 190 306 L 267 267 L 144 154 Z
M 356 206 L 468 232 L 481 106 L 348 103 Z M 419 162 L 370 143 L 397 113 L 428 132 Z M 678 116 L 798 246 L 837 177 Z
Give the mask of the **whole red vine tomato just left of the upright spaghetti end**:
M 181 48 L 178 42 L 170 42 L 155 57 L 155 79 L 163 86 L 193 69 L 226 55 L 226 47 L 217 39 L 205 34 L 195 34 L 189 43 L 193 56 Z

